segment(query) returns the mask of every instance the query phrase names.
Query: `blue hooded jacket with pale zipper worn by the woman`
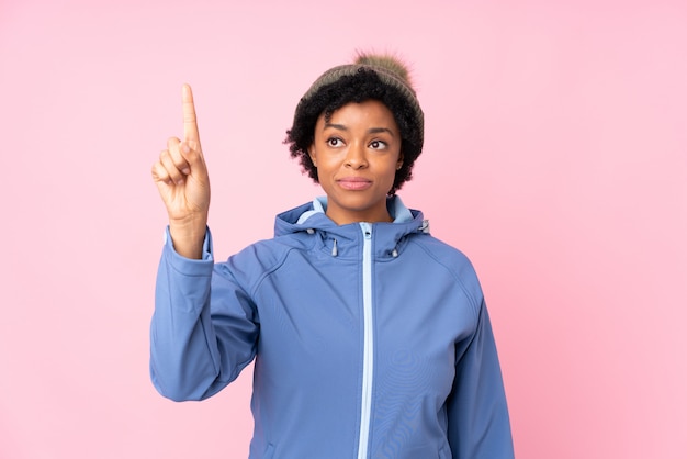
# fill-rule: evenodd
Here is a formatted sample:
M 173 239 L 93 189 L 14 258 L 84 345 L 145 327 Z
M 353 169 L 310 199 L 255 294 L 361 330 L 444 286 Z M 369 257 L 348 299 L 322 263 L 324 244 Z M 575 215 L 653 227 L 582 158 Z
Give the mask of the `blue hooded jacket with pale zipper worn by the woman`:
M 250 458 L 513 458 L 475 271 L 419 211 L 395 205 L 405 222 L 339 226 L 308 203 L 221 264 L 210 233 L 203 260 L 168 237 L 150 331 L 157 390 L 206 399 L 255 358 Z

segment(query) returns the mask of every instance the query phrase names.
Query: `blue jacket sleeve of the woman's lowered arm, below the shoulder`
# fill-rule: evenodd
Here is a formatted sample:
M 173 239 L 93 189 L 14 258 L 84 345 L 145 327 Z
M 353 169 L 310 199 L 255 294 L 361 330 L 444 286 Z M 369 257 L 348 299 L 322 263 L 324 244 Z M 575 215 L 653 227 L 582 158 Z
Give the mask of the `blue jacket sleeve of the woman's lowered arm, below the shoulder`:
M 489 316 L 482 301 L 472 337 L 457 345 L 455 379 L 448 403 L 454 459 L 513 459 L 506 394 Z

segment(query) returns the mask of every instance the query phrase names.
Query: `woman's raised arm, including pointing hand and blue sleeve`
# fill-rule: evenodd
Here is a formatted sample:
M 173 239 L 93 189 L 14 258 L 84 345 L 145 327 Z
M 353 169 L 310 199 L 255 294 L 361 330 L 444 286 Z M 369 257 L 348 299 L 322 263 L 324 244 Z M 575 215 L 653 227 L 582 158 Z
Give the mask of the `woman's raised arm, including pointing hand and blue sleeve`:
M 150 325 L 150 376 L 177 401 L 205 399 L 233 381 L 254 358 L 258 336 L 250 300 L 213 261 L 210 179 L 188 85 L 182 108 L 183 142 L 170 138 L 153 166 L 169 227 Z

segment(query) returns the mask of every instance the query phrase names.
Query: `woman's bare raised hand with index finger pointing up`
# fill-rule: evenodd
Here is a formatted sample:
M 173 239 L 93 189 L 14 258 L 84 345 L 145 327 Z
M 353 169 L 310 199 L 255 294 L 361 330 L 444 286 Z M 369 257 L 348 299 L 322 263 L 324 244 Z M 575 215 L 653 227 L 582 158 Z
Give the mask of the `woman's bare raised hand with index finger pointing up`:
M 182 89 L 182 107 L 183 141 L 167 141 L 167 149 L 153 165 L 153 181 L 167 208 L 174 249 L 182 256 L 200 258 L 210 209 L 210 179 L 189 85 Z

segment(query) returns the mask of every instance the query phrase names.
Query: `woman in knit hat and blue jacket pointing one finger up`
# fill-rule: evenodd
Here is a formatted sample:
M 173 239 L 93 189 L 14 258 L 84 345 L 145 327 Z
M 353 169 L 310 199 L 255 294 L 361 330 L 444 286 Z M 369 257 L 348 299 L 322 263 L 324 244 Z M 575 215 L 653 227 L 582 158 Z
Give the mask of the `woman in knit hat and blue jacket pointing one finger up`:
M 169 213 L 151 378 L 202 400 L 255 358 L 251 458 L 511 458 L 498 357 L 470 261 L 395 195 L 423 147 L 405 67 L 361 55 L 320 76 L 286 142 L 326 197 L 212 258 L 193 98 L 153 168 Z

